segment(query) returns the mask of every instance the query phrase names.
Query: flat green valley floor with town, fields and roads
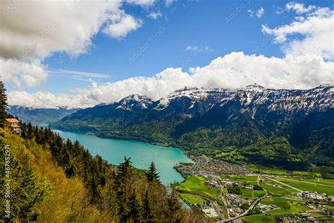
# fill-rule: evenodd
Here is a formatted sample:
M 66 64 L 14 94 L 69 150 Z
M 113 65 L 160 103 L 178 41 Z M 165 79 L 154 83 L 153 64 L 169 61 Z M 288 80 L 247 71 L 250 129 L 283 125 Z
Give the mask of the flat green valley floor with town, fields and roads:
M 178 164 L 185 177 L 176 189 L 190 207 L 216 222 L 278 222 L 334 220 L 334 180 L 313 172 L 268 173 L 191 157 Z

